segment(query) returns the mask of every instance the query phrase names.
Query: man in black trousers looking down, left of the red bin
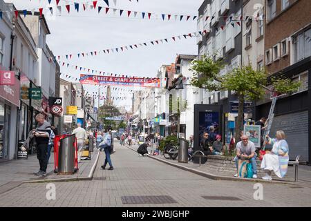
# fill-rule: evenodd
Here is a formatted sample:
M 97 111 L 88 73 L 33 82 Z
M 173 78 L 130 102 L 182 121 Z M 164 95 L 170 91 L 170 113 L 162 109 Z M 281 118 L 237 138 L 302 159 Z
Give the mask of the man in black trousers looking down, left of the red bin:
M 35 173 L 35 175 L 46 176 L 46 168 L 48 167 L 48 142 L 52 129 L 50 123 L 46 121 L 44 115 L 41 113 L 39 113 L 35 119 L 38 125 L 32 133 L 36 137 L 37 158 L 40 164 L 39 172 Z

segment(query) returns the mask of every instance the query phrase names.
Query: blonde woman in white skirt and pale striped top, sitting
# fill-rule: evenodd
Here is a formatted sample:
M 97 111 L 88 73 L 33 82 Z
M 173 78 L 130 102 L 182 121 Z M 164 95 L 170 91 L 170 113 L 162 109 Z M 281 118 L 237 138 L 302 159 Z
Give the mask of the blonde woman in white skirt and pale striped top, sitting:
M 266 175 L 263 180 L 272 180 L 271 173 L 280 177 L 285 177 L 288 172 L 288 161 L 290 159 L 288 153 L 288 142 L 285 140 L 284 131 L 276 131 L 276 139 L 272 139 L 267 135 L 267 143 L 272 144 L 272 151 L 263 156 L 261 168 L 265 170 Z

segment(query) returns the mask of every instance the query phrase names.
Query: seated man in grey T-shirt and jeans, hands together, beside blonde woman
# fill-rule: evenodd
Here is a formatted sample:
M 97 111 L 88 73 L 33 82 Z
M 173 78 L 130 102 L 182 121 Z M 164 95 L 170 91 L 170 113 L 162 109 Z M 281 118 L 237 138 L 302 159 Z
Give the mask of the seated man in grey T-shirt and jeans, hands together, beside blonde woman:
M 257 164 L 256 164 L 256 147 L 255 144 L 251 141 L 249 141 L 249 138 L 246 135 L 243 135 L 241 137 L 241 142 L 238 142 L 236 144 L 236 169 L 238 170 L 238 160 L 249 160 L 252 163 L 252 169 L 253 169 L 253 178 L 257 178 Z M 234 175 L 235 177 L 238 176 L 238 173 Z

